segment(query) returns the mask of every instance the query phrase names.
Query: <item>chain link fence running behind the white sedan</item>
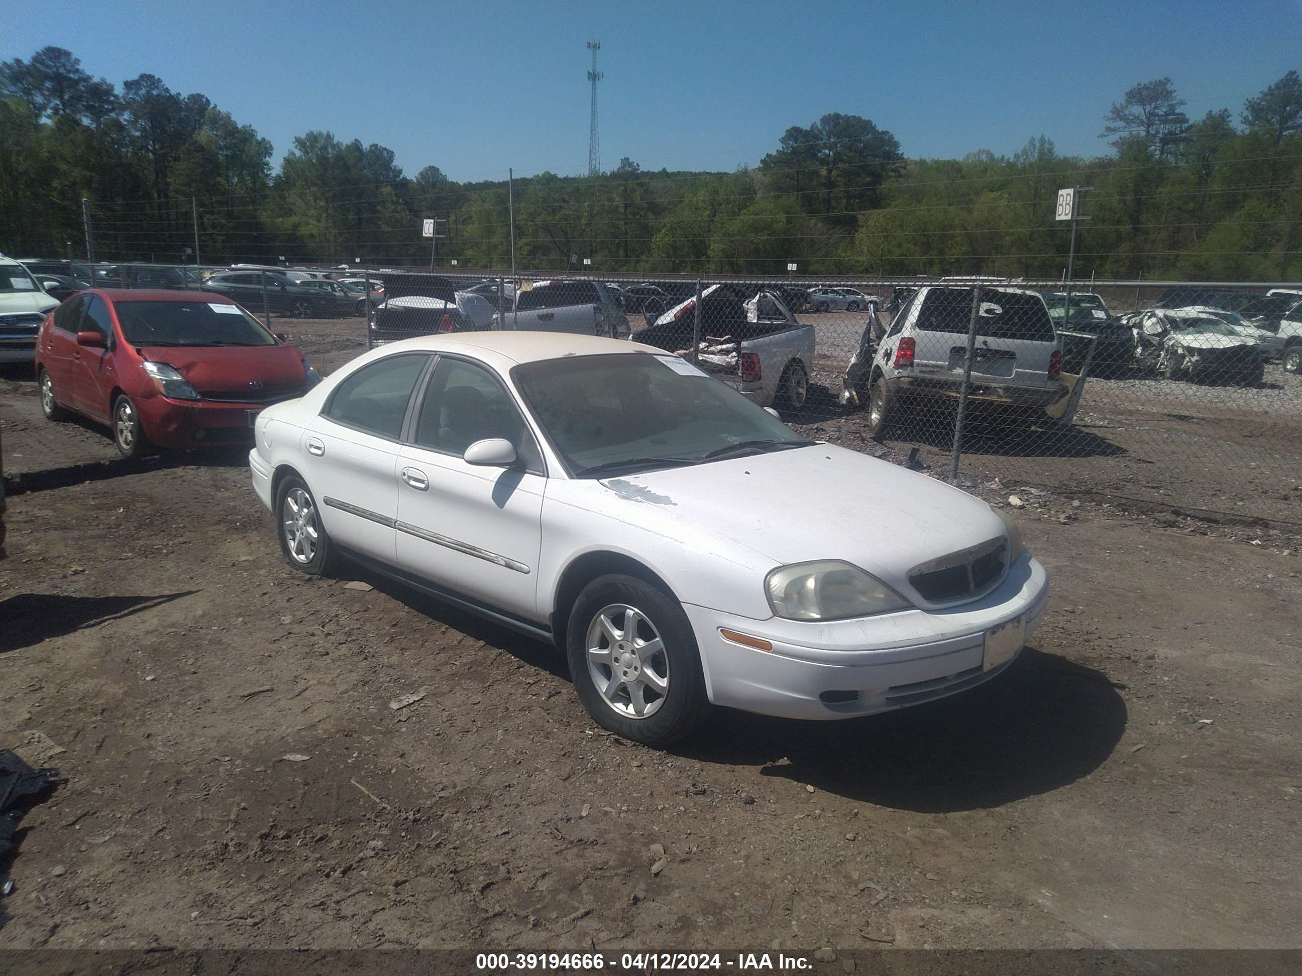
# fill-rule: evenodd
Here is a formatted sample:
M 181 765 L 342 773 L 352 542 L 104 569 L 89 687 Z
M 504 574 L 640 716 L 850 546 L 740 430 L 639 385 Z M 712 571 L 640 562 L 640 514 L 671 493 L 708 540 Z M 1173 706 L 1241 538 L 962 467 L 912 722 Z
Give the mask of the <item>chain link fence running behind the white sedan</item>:
M 811 436 L 909 453 L 961 484 L 1302 523 L 1302 289 L 29 267 L 56 298 L 87 286 L 224 294 L 336 367 L 439 332 L 633 338 Z

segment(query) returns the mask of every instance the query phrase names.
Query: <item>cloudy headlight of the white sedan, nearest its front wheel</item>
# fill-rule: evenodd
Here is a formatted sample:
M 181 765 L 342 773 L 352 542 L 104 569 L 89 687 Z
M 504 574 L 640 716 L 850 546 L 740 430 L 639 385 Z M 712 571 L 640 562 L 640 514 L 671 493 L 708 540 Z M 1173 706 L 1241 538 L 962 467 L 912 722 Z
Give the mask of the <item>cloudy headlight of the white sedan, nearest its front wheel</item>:
M 911 606 L 876 576 L 838 560 L 779 566 L 764 588 L 773 613 L 792 621 L 838 621 Z

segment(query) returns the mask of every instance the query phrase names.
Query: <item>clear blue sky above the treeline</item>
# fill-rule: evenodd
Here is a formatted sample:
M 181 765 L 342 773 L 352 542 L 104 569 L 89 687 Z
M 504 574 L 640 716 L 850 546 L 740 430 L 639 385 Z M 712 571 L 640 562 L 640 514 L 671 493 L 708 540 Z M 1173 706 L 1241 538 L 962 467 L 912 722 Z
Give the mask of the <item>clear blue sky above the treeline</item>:
M 587 167 L 589 52 L 602 42 L 602 164 L 733 169 L 827 112 L 871 118 L 909 156 L 1060 152 L 1098 138 L 1128 87 L 1169 75 L 1191 118 L 1302 70 L 1302 0 L 1038 3 L 398 3 L 30 0 L 0 60 L 65 47 L 116 85 L 148 72 L 275 146 L 327 129 L 414 176 Z

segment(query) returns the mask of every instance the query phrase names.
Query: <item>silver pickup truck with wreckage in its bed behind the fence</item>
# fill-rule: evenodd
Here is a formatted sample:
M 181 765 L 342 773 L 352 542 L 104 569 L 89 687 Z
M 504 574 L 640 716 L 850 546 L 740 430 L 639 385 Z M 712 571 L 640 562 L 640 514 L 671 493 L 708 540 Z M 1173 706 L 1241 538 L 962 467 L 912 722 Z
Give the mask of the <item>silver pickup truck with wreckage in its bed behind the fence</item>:
M 633 340 L 691 358 L 697 298 L 674 306 Z M 732 285 L 700 293 L 697 364 L 754 403 L 801 410 L 809 400 L 814 327 L 801 325 L 773 291 L 750 299 Z

